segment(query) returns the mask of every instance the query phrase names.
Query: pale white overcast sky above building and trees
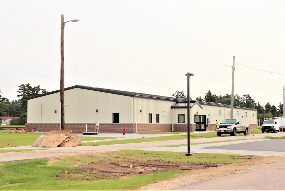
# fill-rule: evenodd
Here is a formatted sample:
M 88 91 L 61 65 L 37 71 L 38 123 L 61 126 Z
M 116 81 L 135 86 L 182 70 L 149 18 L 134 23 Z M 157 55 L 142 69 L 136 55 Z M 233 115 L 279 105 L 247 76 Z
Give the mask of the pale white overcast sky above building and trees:
M 224 65 L 235 56 L 234 94 L 263 106 L 283 103 L 285 1 L 273 0 L 1 0 L 2 97 L 18 100 L 18 86 L 27 83 L 60 89 L 62 14 L 80 20 L 65 24 L 65 87 L 171 97 L 187 95 L 189 72 L 192 99 L 208 90 L 223 96 L 232 81 Z

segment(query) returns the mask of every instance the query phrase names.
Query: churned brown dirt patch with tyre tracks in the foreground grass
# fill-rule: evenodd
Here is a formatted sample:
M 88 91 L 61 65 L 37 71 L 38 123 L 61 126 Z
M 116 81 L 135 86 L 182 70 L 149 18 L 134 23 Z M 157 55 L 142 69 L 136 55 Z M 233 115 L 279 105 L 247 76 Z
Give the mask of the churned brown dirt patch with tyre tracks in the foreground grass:
M 196 163 L 184 161 L 170 161 L 159 159 L 143 159 L 133 158 L 124 159 L 123 157 L 114 157 L 111 159 L 111 153 L 100 153 L 96 155 L 77 155 L 80 159 L 93 161 L 89 163 L 78 161 L 77 165 L 68 172 L 69 176 L 63 171 L 59 179 L 74 179 L 74 180 L 114 180 L 128 178 L 138 174 L 155 174 L 166 171 L 197 171 L 207 170 L 210 168 L 229 166 L 234 163 Z M 239 156 L 237 156 L 238 158 Z M 50 160 L 50 164 L 60 158 Z M 253 161 L 250 157 L 247 159 Z M 131 168 L 132 167 L 132 168 Z

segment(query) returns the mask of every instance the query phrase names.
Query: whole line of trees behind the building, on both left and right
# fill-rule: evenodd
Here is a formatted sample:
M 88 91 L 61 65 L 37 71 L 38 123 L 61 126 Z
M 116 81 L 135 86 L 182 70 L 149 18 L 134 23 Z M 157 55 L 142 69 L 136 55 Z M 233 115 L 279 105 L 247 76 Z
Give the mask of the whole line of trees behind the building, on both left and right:
M 28 97 L 48 92 L 46 89 L 42 89 L 40 85 L 32 87 L 29 83 L 22 84 L 18 87 L 19 95 L 17 97 L 19 97 L 19 100 L 12 100 L 11 102 L 9 99 L 2 97 L 0 89 L 0 119 L 2 116 L 8 116 L 9 114 L 11 117 L 19 117 L 17 119 L 12 119 L 11 125 L 25 125 L 27 122 Z M 187 99 L 187 96 L 185 96 L 183 91 L 176 91 L 172 96 Z M 196 97 L 196 100 L 230 105 L 231 95 L 226 94 L 224 96 L 217 96 L 212 94 L 209 90 L 205 93 L 203 98 L 201 96 Z M 281 104 L 281 102 L 279 103 L 278 108 L 271 105 L 269 102 L 263 107 L 259 102 L 255 103 L 255 100 L 249 94 L 243 96 L 239 96 L 238 94 L 234 95 L 234 105 L 257 109 L 257 119 L 272 118 L 278 115 L 283 116 L 283 104 Z M 280 113 L 278 113 L 278 111 L 280 111 Z

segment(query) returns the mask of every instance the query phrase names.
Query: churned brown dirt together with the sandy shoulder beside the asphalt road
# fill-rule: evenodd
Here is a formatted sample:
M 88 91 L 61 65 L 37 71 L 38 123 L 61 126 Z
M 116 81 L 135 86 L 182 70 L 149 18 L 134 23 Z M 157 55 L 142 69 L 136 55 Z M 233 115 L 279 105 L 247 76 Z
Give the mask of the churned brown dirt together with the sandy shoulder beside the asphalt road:
M 141 190 L 170 190 L 193 182 L 225 176 L 252 166 L 264 165 L 283 159 L 283 157 L 248 157 L 243 163 L 195 163 L 143 158 L 130 159 L 124 158 L 124 156 L 112 157 L 110 152 L 100 153 L 99 155 L 77 155 L 77 157 L 88 159 L 91 162 L 78 161 L 74 168 L 68 172 L 68 176 L 63 171 L 57 178 L 114 180 L 138 174 L 187 171 L 184 174 L 177 175 L 176 178 L 143 186 Z M 237 159 L 238 157 L 236 156 L 235 158 Z M 51 159 L 50 163 L 62 159 L 62 157 L 56 157 Z M 132 168 L 130 168 L 131 165 L 133 166 Z

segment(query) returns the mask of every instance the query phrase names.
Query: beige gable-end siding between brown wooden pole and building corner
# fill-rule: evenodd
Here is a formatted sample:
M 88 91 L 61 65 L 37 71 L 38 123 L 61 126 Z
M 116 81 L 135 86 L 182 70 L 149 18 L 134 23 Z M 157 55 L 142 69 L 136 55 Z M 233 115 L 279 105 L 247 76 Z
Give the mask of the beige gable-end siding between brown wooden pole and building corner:
M 112 123 L 113 113 L 119 113 L 119 123 L 132 123 L 132 99 L 129 96 L 78 88 L 65 91 L 65 122 Z

